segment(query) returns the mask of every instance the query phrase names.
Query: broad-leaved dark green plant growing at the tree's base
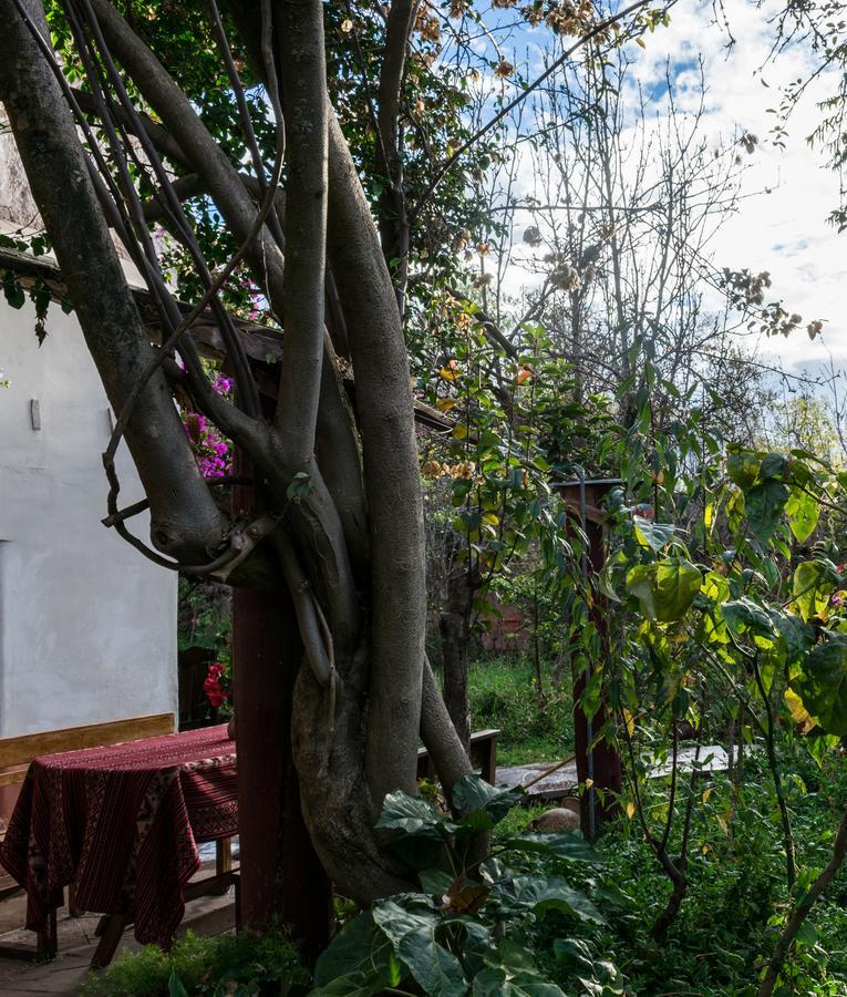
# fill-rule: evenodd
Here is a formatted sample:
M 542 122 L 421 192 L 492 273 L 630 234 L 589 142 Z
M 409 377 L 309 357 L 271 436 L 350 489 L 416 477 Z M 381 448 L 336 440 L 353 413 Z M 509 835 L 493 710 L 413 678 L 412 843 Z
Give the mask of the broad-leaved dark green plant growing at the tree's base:
M 402 792 L 386 796 L 379 826 L 417 871 L 421 892 L 379 900 L 345 925 L 318 960 L 314 997 L 388 987 L 438 997 L 564 994 L 539 966 L 533 934 L 550 912 L 571 926 L 603 924 L 586 892 L 556 874 L 599 859 L 577 834 L 498 834 L 520 794 L 468 775 L 454 789 L 452 815 Z M 490 832 L 485 857 L 479 835 Z

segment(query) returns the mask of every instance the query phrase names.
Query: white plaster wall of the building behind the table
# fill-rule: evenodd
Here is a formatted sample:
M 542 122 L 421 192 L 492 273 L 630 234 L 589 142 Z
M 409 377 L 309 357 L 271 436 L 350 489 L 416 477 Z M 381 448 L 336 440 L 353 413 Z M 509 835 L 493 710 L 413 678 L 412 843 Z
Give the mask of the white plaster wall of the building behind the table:
M 109 403 L 74 317 L 47 325 L 39 347 L 29 301 L 0 297 L 0 737 L 177 708 L 176 577 L 101 524 Z

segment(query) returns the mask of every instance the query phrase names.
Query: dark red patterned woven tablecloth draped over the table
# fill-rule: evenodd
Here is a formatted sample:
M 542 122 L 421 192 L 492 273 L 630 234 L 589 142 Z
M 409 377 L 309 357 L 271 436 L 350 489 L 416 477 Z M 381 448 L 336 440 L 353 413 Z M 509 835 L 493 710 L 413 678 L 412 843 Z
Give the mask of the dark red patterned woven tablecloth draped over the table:
M 238 829 L 235 742 L 226 724 L 37 758 L 0 844 L 25 887 L 27 927 L 45 931 L 62 888 L 76 906 L 134 918 L 166 944 L 200 866 L 197 841 Z

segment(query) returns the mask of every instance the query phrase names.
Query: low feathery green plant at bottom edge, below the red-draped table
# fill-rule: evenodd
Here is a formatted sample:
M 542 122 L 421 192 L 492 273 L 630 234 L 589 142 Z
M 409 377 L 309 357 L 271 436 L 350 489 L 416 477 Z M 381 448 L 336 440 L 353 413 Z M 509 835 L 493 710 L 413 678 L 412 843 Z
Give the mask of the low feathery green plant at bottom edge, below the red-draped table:
M 202 938 L 188 932 L 169 953 L 147 945 L 121 956 L 102 975 L 93 972 L 83 997 L 252 997 L 272 984 L 275 993 L 306 994 L 309 974 L 285 932 L 249 932 Z

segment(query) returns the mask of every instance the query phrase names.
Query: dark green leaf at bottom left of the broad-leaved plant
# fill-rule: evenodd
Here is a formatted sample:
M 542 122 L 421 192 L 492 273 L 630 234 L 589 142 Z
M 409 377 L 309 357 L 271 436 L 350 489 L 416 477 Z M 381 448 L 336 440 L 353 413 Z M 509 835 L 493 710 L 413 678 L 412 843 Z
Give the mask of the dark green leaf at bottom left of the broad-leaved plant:
M 397 985 L 399 970 L 391 942 L 365 911 L 345 924 L 321 953 L 314 967 L 314 993 L 361 997 L 379 994 Z M 347 980 L 351 989 L 339 989 L 340 979 Z

